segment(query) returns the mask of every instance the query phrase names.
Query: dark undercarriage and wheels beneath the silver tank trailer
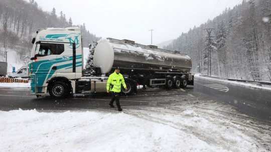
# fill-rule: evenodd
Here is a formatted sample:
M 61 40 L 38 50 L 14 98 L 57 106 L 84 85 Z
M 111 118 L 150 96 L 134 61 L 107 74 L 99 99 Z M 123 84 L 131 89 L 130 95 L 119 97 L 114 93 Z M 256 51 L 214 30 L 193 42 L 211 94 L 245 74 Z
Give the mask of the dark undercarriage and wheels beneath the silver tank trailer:
M 125 77 L 127 86 L 127 91 L 123 89 L 122 93 L 129 95 L 135 94 L 139 85 L 169 90 L 194 85 L 194 76 L 191 73 L 172 71 L 171 69 L 169 71 L 121 68 L 121 73 Z

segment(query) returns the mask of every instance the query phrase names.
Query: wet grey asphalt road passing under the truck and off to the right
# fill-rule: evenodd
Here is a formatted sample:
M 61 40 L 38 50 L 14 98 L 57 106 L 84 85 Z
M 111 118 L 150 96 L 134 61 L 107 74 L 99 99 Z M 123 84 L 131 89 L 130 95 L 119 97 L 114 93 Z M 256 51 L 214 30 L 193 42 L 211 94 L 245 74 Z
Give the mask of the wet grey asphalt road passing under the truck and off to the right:
M 190 98 L 189 98 L 190 97 Z M 213 99 L 233 105 L 241 113 L 249 116 L 271 120 L 271 92 L 242 87 L 219 80 L 206 80 L 195 77 L 195 85 L 186 89 L 165 90 L 151 88 L 139 90 L 134 96 L 122 96 L 122 108 L 140 108 L 146 106 L 167 105 L 182 100 Z M 107 94 L 95 96 L 75 95 L 73 98 L 55 99 L 30 94 L 27 88 L 0 88 L 0 110 L 37 109 L 37 110 L 82 110 L 108 109 L 110 97 Z

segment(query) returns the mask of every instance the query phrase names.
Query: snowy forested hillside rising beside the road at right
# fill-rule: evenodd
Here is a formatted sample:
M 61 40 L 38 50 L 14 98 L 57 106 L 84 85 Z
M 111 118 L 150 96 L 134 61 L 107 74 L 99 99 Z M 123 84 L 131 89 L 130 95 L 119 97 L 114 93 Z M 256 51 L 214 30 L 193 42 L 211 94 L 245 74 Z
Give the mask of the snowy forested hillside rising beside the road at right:
M 193 60 L 193 71 L 207 75 L 211 44 L 212 75 L 271 80 L 271 0 L 249 0 L 194 27 L 166 48 Z M 206 29 L 213 28 L 209 39 Z M 211 41 L 209 41 L 211 40 Z

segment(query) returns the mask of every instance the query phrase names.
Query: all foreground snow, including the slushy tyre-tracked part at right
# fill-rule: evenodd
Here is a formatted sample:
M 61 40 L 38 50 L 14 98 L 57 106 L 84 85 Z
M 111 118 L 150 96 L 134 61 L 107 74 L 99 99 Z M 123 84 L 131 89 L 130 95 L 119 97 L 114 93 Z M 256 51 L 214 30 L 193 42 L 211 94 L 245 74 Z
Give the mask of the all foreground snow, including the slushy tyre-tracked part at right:
M 253 130 L 190 108 L 20 109 L 0 111 L 0 124 L 0 151 L 266 151 Z

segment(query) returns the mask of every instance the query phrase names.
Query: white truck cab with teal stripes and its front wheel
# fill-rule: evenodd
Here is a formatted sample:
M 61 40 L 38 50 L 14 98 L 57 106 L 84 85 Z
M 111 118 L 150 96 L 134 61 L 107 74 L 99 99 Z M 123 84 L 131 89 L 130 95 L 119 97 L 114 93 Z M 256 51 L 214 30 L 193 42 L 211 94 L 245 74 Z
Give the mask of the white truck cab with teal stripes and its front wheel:
M 75 81 L 81 78 L 83 67 L 80 28 L 39 30 L 32 43 L 29 64 L 31 92 L 37 96 L 49 92 L 55 97 L 75 93 Z M 82 83 L 81 86 L 86 83 L 86 87 L 90 89 L 88 82 L 78 83 Z

